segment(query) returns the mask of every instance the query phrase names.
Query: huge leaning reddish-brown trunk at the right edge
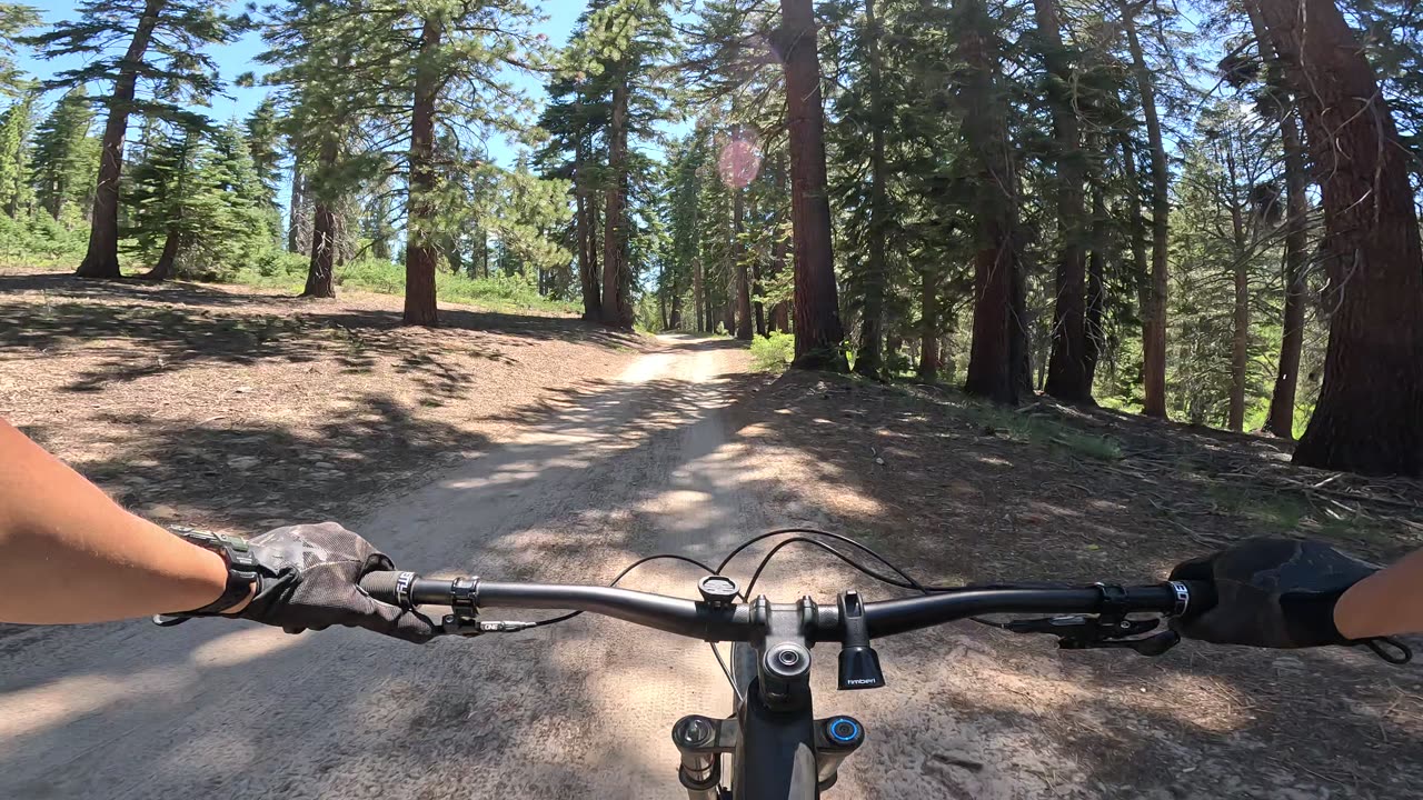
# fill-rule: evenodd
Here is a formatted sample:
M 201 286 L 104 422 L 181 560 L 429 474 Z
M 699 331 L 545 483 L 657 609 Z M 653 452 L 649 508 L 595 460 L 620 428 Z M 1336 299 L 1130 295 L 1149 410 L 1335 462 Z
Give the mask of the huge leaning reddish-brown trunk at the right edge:
M 1331 253 L 1325 380 L 1295 463 L 1423 474 L 1423 242 L 1407 151 L 1331 0 L 1249 1 L 1303 112 Z

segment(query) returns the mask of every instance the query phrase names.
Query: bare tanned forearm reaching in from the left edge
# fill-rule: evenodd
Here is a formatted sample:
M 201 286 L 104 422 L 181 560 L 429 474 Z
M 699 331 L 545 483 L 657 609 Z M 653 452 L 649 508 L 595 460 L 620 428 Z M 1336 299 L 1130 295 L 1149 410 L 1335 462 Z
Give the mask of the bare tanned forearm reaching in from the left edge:
M 215 552 L 120 508 L 0 420 L 0 621 L 105 622 L 222 596 Z

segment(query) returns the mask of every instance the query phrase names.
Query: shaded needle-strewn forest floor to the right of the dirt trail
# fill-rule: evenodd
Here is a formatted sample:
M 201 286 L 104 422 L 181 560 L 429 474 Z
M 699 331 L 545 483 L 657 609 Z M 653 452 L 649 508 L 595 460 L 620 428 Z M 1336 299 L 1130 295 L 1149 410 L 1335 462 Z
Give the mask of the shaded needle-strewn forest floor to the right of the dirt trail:
M 1294 467 L 1288 443 L 1259 436 L 794 373 L 739 413 L 753 451 L 808 456 L 785 501 L 824 510 L 820 524 L 925 584 L 1150 582 L 1262 534 L 1377 562 L 1423 547 L 1423 483 Z M 978 626 L 935 638 L 948 666 L 918 698 L 978 720 L 924 767 L 949 797 L 1402 799 L 1423 786 L 1417 665 L 1190 642 L 1160 659 L 1054 652 Z M 898 645 L 882 648 L 891 683 L 916 678 L 894 675 Z

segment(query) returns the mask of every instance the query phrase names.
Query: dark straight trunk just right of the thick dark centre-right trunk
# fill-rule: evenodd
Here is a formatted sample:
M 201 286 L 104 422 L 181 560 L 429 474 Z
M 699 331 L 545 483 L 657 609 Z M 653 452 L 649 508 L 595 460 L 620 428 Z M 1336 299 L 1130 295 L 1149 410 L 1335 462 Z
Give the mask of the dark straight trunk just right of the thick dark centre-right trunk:
M 1086 307 L 1087 260 L 1083 248 L 1086 162 L 1081 152 L 1081 125 L 1074 104 L 1072 64 L 1063 47 L 1057 0 L 1033 0 L 1033 9 L 1050 81 L 1047 102 L 1053 115 L 1053 154 L 1057 167 L 1054 205 L 1062 236 L 1054 279 L 1053 347 L 1044 390 L 1067 403 L 1091 403 Z

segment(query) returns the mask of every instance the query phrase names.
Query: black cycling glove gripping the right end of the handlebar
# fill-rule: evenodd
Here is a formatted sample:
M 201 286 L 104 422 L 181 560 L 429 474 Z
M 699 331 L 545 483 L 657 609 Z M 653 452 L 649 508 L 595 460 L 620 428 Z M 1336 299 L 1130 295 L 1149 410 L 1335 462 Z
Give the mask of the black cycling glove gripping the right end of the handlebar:
M 1173 621 L 1188 639 L 1255 648 L 1349 645 L 1335 626 L 1339 598 L 1376 567 L 1329 545 L 1284 538 L 1247 540 L 1187 561 L 1173 581 L 1215 585 L 1217 602 Z

